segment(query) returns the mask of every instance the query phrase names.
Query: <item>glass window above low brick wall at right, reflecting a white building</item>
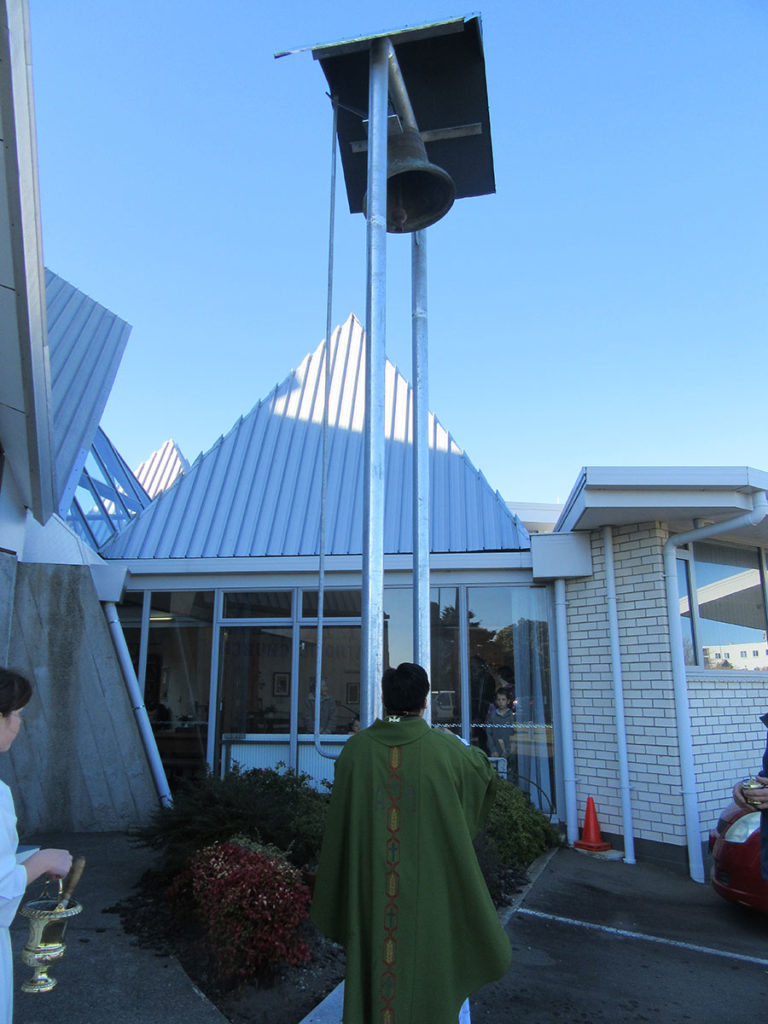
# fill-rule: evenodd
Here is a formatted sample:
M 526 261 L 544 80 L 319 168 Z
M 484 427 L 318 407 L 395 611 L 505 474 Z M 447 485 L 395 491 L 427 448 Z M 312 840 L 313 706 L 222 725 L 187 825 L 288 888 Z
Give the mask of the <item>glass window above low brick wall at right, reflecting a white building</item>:
M 767 628 L 759 552 L 700 543 L 693 545 L 693 557 L 705 667 L 746 668 L 738 664 L 748 656 L 745 645 L 762 647 Z M 750 659 L 749 668 L 768 670 L 768 657 Z

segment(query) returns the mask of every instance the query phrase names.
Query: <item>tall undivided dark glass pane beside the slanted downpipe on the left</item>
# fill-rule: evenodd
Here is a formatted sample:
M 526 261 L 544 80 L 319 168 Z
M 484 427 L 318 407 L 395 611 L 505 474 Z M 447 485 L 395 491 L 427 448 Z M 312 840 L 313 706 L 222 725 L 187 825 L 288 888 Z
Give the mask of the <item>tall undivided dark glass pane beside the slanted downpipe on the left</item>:
M 171 785 L 206 764 L 213 597 L 152 594 L 144 703 Z

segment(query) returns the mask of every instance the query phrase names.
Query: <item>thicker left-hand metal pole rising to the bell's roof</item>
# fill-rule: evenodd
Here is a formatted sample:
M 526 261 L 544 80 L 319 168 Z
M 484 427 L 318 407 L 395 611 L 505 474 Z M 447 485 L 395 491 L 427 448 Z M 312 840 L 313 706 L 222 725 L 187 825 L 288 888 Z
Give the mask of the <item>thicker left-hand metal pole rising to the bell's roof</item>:
M 368 123 L 366 433 L 362 505 L 362 700 L 360 725 L 381 705 L 384 653 L 384 361 L 387 262 L 387 39 L 371 46 Z

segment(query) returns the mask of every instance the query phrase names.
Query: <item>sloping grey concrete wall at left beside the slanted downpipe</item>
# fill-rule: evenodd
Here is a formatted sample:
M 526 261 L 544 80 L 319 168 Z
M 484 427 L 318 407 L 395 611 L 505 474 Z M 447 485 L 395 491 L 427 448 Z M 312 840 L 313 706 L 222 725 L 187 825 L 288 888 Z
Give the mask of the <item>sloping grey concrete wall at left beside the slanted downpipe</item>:
M 158 798 L 88 568 L 1 555 L 0 588 L 0 630 L 12 602 L 4 663 L 36 686 L 22 733 L 0 757 L 19 834 L 145 821 Z

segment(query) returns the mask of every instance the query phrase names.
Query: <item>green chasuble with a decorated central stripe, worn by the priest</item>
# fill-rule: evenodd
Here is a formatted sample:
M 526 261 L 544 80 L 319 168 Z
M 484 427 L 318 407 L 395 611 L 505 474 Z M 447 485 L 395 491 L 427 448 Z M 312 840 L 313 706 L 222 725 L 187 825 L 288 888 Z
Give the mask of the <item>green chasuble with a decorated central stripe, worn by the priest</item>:
M 311 916 L 346 949 L 344 1024 L 457 1024 L 511 949 L 472 838 L 494 802 L 485 755 L 421 718 L 350 736 Z

